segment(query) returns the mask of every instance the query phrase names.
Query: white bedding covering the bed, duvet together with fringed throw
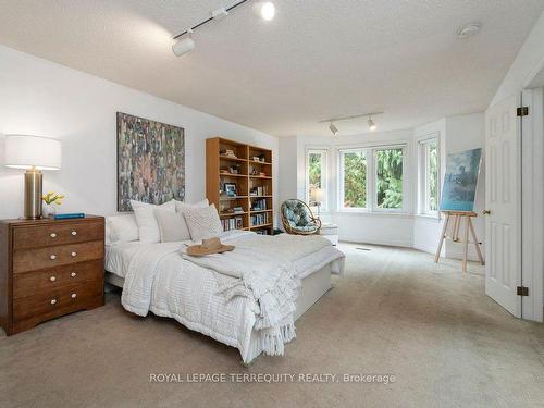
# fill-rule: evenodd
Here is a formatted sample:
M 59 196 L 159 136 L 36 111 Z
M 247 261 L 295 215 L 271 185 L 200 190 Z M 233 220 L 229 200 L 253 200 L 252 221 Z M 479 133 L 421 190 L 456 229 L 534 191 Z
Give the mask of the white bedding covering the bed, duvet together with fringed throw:
M 264 353 L 283 354 L 283 344 L 295 335 L 293 314 L 298 279 L 304 277 L 297 271 L 298 260 L 330 251 L 324 264 L 343 254 L 321 237 L 231 232 L 222 240 L 236 249 L 199 260 L 183 259 L 185 246 L 181 243 L 143 246 L 126 272 L 124 308 L 138 316 L 152 311 L 175 318 L 191 330 L 238 347 L 243 357 L 251 331 L 258 330 Z M 233 316 L 237 316 L 235 321 Z

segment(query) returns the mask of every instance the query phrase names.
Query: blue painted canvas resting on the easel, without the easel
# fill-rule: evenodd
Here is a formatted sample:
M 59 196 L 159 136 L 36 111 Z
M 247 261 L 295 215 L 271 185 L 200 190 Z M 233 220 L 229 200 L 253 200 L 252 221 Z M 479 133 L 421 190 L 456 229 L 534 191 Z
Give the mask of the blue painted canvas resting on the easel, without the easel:
M 473 211 L 482 149 L 466 150 L 447 157 L 442 189 L 442 211 Z

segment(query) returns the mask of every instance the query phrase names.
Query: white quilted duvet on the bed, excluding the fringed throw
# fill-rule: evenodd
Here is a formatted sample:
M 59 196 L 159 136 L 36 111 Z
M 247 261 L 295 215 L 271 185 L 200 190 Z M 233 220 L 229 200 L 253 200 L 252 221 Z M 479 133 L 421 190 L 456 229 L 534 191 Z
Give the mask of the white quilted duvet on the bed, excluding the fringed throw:
M 222 242 L 232 245 L 238 242 L 242 246 L 250 236 L 255 234 L 230 232 L 222 236 Z M 271 245 L 270 254 L 283 254 L 288 258 L 297 279 L 304 279 L 326 263 L 344 257 L 330 245 L 314 246 L 314 252 L 308 256 L 305 237 L 295 240 L 288 235 L 285 235 L 285 239 L 269 238 L 265 242 L 276 243 Z M 295 242 L 300 245 L 294 245 Z M 225 280 L 232 280 L 234 284 L 236 279 L 183 259 L 183 247 L 182 243 L 143 245 L 126 271 L 123 306 L 139 316 L 151 311 L 161 317 L 174 318 L 190 330 L 237 347 L 247 362 L 251 334 L 260 311 L 258 302 L 251 296 L 235 296 L 227 300 L 219 293 L 220 283 L 224 285 Z

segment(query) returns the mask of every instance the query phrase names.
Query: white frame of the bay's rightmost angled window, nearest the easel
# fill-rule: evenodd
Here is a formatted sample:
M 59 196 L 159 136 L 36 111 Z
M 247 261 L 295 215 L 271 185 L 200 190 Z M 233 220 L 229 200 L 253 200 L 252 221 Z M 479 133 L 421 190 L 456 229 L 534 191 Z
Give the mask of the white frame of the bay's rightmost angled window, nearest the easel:
M 430 184 L 429 184 L 429 146 L 434 144 L 436 146 L 436 210 L 430 209 Z M 419 215 L 440 218 L 440 202 L 441 202 L 441 145 L 440 134 L 428 135 L 426 137 L 418 140 L 418 173 L 419 173 Z

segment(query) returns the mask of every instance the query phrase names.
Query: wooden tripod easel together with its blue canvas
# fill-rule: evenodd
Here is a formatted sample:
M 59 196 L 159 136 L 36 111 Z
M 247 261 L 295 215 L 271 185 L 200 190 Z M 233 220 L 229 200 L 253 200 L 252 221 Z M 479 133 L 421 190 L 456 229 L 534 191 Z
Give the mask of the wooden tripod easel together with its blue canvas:
M 475 236 L 471 219 L 478 217 L 474 212 L 475 194 L 478 189 L 478 178 L 480 175 L 480 165 L 482 161 L 482 149 L 466 150 L 448 154 L 446 162 L 446 175 L 442 189 L 442 199 L 440 210 L 446 215 L 442 233 L 440 236 L 438 248 L 436 249 L 435 262 L 438 262 L 442 246 L 445 239 L 452 239 L 460 243 L 459 230 L 465 221 L 463 259 L 462 271 L 467 272 L 467 258 L 469 234 L 472 237 L 480 263 L 484 264 L 480 243 Z M 452 236 L 447 236 L 447 227 L 453 218 L 454 224 Z

